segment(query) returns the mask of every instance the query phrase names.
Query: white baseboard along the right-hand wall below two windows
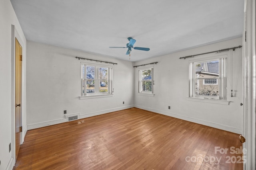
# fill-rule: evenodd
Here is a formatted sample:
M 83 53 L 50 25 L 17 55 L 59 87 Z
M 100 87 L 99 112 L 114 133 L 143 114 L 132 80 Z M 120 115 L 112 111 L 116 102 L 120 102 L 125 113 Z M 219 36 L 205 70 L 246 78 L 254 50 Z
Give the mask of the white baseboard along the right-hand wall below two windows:
M 170 116 L 170 117 L 175 117 L 175 118 L 178 118 L 178 119 L 190 121 L 190 122 L 193 122 L 193 123 L 198 123 L 198 124 L 201 124 L 201 125 L 206 125 L 206 126 L 214 127 L 214 128 L 217 128 L 217 129 L 222 129 L 224 131 L 229 131 L 229 132 L 233 132 L 233 133 L 237 133 L 237 134 L 242 134 L 242 129 L 237 129 L 235 127 L 230 127 L 230 126 L 227 126 L 227 125 L 221 125 L 221 124 L 218 124 L 218 123 L 205 121 L 205 120 L 202 120 L 202 119 L 196 119 L 196 118 L 193 118 L 193 117 L 187 117 L 187 116 L 184 116 L 184 115 L 178 115 L 178 114 L 175 114 L 175 113 L 169 113 L 169 112 L 166 112 L 166 111 L 162 111 L 162 110 L 158 110 L 158 109 L 152 109 L 152 108 L 149 108 L 149 107 L 144 107 L 144 106 L 139 106 L 139 105 L 135 105 L 134 107 L 137 107 L 139 109 L 144 109 L 144 110 L 147 110 L 147 111 L 152 111 L 152 112 L 159 113 L 159 114 L 162 114 L 162 115 L 167 115 L 167 116 Z

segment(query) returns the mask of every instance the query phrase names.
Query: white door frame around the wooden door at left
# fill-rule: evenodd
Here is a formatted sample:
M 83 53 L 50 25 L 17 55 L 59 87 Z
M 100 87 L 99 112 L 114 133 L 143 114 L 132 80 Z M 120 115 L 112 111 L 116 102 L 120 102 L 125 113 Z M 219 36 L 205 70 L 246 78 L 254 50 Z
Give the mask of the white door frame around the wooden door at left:
M 22 41 L 22 38 L 20 37 L 20 35 L 18 34 L 18 31 L 16 30 L 15 26 L 12 25 L 12 49 L 11 49 L 11 161 L 13 162 L 13 166 L 15 165 L 16 162 L 16 141 L 15 141 L 15 39 L 18 40 L 18 42 L 20 43 L 20 46 L 22 47 L 22 56 L 24 56 L 24 42 Z M 22 57 L 24 59 L 24 57 Z M 22 62 L 22 72 L 21 72 L 21 103 L 22 106 L 21 107 L 21 126 L 24 125 L 24 106 L 26 106 L 25 104 L 25 100 L 24 100 L 24 63 Z M 24 130 L 22 130 L 21 133 L 21 139 L 20 139 L 20 144 L 22 144 L 24 142 L 24 135 L 26 134 L 26 129 L 25 127 L 23 128 Z

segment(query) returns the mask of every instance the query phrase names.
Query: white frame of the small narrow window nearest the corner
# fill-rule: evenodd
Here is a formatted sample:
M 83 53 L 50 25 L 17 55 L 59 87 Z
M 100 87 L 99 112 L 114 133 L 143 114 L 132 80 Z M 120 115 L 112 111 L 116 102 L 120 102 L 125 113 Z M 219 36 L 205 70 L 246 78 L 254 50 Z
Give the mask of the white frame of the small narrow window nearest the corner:
M 151 69 L 151 80 L 142 80 L 142 71 L 144 70 L 150 70 Z M 150 67 L 143 67 L 138 69 L 138 81 L 139 81 L 139 87 L 138 87 L 138 94 L 144 95 L 144 96 L 154 96 L 154 66 Z M 143 91 L 142 83 L 143 82 L 151 82 L 151 91 Z

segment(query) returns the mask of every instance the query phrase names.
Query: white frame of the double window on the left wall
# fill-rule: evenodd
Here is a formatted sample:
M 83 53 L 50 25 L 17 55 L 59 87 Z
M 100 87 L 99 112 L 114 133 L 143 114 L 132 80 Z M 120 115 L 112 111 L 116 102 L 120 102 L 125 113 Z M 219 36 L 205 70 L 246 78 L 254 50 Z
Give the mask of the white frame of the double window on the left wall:
M 84 66 L 84 72 L 83 72 Z M 94 79 L 86 78 L 86 66 L 95 67 Z M 100 92 L 100 73 L 98 68 L 108 68 L 108 92 Z M 84 63 L 81 62 L 81 96 L 80 99 L 88 99 L 88 98 L 104 98 L 113 96 L 113 69 L 114 66 L 108 64 L 95 64 L 95 63 Z M 84 78 L 83 78 L 84 77 Z M 87 93 L 87 80 L 94 80 L 94 92 Z M 106 79 L 104 79 L 105 81 Z

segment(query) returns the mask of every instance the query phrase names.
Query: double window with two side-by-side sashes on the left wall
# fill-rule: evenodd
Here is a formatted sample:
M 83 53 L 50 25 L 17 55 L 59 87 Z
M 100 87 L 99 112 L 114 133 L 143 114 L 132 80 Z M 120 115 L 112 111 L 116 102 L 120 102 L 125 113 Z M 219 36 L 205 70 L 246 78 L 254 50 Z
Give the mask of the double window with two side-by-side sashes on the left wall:
M 112 94 L 112 66 L 82 63 L 81 96 Z

